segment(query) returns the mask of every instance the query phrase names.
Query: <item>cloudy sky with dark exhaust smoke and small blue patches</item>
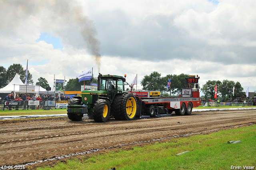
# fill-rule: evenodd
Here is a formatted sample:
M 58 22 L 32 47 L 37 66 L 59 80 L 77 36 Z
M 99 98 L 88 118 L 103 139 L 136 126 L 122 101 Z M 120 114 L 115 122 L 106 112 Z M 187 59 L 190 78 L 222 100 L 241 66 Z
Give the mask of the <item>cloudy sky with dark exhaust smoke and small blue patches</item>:
M 0 16 L 0 65 L 28 60 L 34 85 L 93 68 L 128 83 L 157 71 L 256 90 L 255 0 L 0 0 Z

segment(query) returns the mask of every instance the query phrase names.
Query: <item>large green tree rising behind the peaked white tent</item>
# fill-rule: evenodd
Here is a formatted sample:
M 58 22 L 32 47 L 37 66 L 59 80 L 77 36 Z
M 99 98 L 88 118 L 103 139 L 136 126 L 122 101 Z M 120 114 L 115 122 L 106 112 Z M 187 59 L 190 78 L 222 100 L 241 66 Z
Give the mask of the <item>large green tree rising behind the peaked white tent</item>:
M 20 80 L 22 82 L 25 82 L 26 80 L 26 70 L 23 69 L 21 64 L 12 64 L 11 66 L 8 67 L 7 73 L 6 73 L 6 81 L 7 83 L 10 83 L 14 76 L 18 73 L 20 76 Z M 28 71 L 28 84 L 33 85 L 34 82 L 32 80 L 32 75 Z

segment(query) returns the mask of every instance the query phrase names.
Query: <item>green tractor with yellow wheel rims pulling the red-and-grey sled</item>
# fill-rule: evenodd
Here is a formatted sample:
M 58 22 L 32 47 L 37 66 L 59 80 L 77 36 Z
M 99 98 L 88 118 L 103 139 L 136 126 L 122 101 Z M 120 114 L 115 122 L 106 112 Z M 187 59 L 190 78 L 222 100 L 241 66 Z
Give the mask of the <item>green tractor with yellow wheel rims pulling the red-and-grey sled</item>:
M 87 114 L 96 122 L 106 122 L 110 116 L 116 120 L 133 120 L 137 101 L 134 95 L 124 91 L 125 78 L 126 75 L 99 74 L 98 90 L 84 90 L 82 96 L 74 96 L 70 100 L 68 118 L 78 121 Z

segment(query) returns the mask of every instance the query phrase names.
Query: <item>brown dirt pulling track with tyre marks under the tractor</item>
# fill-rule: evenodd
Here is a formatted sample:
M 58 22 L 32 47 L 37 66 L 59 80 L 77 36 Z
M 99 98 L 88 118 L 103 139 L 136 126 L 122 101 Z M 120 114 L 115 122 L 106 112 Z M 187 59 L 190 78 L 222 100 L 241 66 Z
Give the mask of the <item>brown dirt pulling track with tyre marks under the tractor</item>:
M 26 164 L 92 149 L 127 149 L 144 145 L 145 142 L 141 141 L 210 133 L 238 125 L 249 126 L 249 123 L 256 124 L 256 110 L 193 112 L 190 116 L 174 114 L 171 117 L 133 121 L 113 119 L 106 123 L 87 119 L 73 122 L 66 117 L 2 120 L 0 165 Z M 57 161 L 46 161 L 44 164 L 50 162 Z

